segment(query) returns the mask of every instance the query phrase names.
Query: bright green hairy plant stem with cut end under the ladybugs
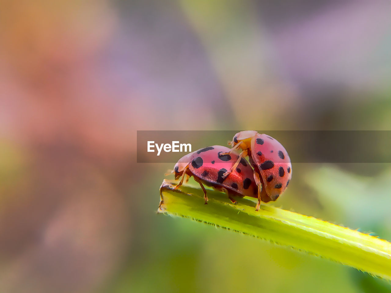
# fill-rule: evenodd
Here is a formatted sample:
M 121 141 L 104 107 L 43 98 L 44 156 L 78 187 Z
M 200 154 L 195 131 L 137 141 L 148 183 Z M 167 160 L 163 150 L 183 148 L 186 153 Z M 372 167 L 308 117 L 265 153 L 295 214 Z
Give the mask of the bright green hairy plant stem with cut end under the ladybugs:
M 233 204 L 215 190 L 207 190 L 209 201 L 204 204 L 199 188 L 172 187 L 170 181 L 163 181 L 158 213 L 269 240 L 391 280 L 391 243 L 386 240 L 266 204 L 255 211 L 254 201 L 237 198 Z

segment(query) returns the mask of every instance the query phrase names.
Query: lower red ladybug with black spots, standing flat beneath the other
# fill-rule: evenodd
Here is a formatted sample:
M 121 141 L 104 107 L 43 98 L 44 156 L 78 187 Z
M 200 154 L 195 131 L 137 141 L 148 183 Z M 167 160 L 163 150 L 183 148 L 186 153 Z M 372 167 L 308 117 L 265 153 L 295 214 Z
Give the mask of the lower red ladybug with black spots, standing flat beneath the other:
M 174 173 L 175 180 L 178 180 L 181 176 L 182 179 L 174 189 L 182 185 L 187 174 L 189 177 L 193 176 L 194 180 L 201 186 L 204 192 L 205 204 L 208 202 L 208 197 L 204 185 L 224 191 L 233 203 L 236 203 L 236 201 L 232 195 L 257 197 L 258 188 L 253 179 L 253 168 L 251 168 L 250 163 L 244 158 L 238 161 L 239 156 L 235 153 L 227 154 L 229 151 L 230 148 L 225 146 L 210 146 L 188 153 L 180 158 L 172 173 Z M 223 174 L 231 170 L 235 163 L 237 163 L 235 170 L 223 177 Z M 163 199 L 161 189 L 160 197 Z

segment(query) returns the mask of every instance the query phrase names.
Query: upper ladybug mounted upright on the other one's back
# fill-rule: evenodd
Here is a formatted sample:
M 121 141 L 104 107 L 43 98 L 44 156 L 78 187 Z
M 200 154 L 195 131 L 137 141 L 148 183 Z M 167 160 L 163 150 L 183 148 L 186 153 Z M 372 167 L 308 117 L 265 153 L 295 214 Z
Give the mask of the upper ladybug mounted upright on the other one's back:
M 249 162 L 254 168 L 254 179 L 258 185 L 256 209 L 259 209 L 260 200 L 276 201 L 292 178 L 291 159 L 282 144 L 273 137 L 254 130 L 238 132 L 228 144 L 233 147 L 225 154 L 231 154 L 234 149 L 241 149 L 238 161 L 249 156 Z M 234 168 L 235 165 L 231 170 Z M 231 170 L 223 176 L 228 176 Z

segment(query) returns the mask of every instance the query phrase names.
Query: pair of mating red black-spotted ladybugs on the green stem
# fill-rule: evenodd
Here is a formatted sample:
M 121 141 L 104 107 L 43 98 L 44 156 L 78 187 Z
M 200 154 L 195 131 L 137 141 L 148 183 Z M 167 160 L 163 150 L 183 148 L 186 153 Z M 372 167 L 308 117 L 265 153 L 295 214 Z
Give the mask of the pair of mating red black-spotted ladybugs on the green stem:
M 228 144 L 231 149 L 205 147 L 180 158 L 173 173 L 176 180 L 181 176 L 182 179 L 174 188 L 182 185 L 187 174 L 201 186 L 205 204 L 208 197 L 203 184 L 226 192 L 234 203 L 232 195 L 257 197 L 257 211 L 261 201 L 276 201 L 292 178 L 291 159 L 282 144 L 253 130 L 240 131 Z M 234 150 L 242 151 L 238 156 Z

